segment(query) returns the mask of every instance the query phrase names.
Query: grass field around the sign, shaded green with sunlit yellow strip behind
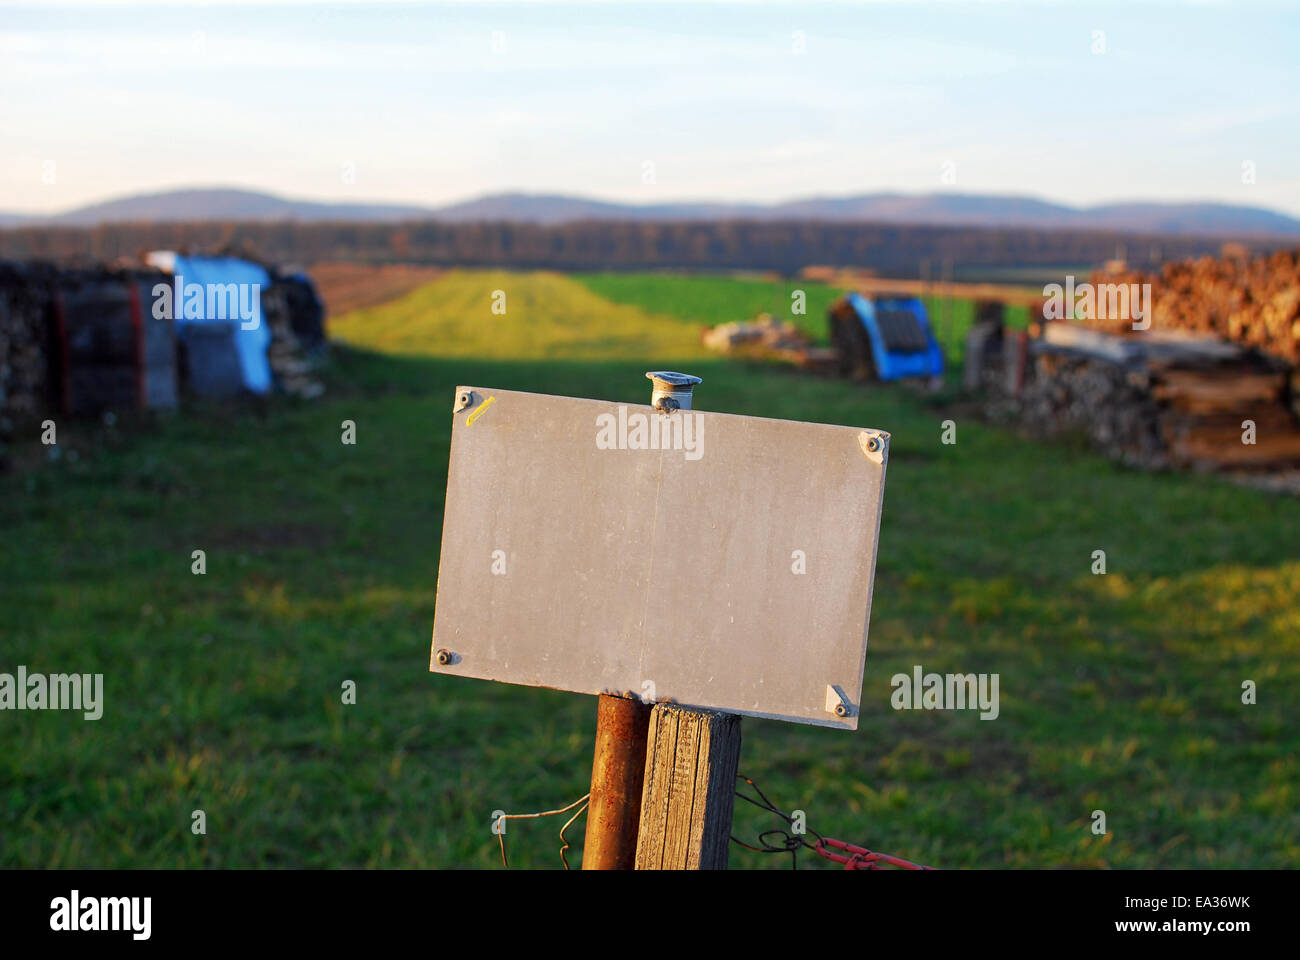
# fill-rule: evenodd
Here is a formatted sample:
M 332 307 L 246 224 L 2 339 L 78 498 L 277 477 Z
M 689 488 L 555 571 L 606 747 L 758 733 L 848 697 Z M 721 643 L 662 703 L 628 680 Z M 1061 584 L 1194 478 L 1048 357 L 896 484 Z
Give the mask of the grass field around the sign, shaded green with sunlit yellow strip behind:
M 894 437 L 861 728 L 746 719 L 777 804 L 945 868 L 1300 865 L 1300 502 L 701 353 L 697 324 L 785 293 L 456 272 L 339 319 L 317 402 L 61 424 L 57 462 L 0 479 L 0 670 L 101 671 L 107 704 L 0 714 L 0 865 L 499 866 L 493 810 L 586 791 L 595 700 L 426 670 L 452 392 L 645 402 L 653 367 L 701 407 Z M 915 663 L 998 673 L 1000 718 L 892 710 Z M 772 826 L 738 805 L 736 836 Z M 558 868 L 558 827 L 512 823 L 512 865 Z

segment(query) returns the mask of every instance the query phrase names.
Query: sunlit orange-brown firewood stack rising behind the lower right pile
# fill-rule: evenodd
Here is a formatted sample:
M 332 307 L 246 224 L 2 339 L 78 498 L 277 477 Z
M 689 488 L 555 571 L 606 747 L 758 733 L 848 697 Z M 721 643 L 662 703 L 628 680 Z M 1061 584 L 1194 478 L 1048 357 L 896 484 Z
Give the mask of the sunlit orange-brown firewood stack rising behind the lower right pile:
M 1093 274 L 1095 284 L 1152 284 L 1152 327 L 1212 333 L 1300 362 L 1300 250 L 1256 256 L 1201 258 L 1169 263 L 1152 276 Z M 1127 319 L 1089 325 L 1115 332 Z

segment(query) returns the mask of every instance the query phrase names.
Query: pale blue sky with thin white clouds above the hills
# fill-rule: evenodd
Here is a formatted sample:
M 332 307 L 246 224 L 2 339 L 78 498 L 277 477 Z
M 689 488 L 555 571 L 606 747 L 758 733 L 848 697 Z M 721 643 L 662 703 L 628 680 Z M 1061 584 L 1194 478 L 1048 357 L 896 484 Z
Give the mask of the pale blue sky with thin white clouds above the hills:
M 238 186 L 1300 215 L 1300 3 L 0 0 L 0 211 Z

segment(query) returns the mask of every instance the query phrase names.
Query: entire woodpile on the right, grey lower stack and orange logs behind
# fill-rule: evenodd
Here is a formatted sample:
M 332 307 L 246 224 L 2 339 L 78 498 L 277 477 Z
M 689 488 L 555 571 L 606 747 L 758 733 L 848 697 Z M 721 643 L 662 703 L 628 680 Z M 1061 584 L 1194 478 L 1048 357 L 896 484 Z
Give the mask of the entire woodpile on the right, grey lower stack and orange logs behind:
M 1098 304 L 1105 289 L 1136 304 L 1150 284 L 1148 329 L 1134 329 L 1132 310 L 1097 310 L 1023 333 L 982 307 L 966 385 L 993 420 L 1082 434 L 1132 466 L 1284 476 L 1300 464 L 1300 250 L 1225 254 L 1092 276 Z

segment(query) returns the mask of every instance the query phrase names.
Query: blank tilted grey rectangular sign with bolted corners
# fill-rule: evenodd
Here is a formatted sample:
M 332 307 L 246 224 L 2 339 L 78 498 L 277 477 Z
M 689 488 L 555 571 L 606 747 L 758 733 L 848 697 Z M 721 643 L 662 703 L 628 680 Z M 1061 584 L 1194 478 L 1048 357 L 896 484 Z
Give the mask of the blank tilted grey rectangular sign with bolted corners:
M 430 670 L 855 730 L 889 436 L 462 386 Z

